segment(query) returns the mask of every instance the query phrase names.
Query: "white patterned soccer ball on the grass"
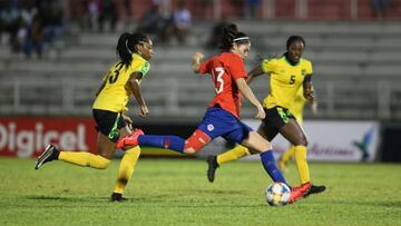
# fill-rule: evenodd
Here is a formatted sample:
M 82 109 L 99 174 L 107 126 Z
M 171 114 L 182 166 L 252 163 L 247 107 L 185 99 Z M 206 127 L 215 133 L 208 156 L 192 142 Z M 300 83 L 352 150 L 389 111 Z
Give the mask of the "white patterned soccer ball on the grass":
M 274 183 L 266 189 L 266 200 L 271 206 L 284 206 L 290 200 L 291 189 L 284 183 Z

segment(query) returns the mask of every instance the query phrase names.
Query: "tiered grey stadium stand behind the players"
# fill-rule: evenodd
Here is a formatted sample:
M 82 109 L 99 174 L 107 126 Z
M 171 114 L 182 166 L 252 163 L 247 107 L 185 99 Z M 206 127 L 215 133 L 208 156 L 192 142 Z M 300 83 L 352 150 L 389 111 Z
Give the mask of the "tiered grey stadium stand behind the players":
M 335 18 L 335 17 L 334 17 Z M 320 102 L 314 118 L 401 119 L 401 36 L 398 21 L 237 20 L 253 40 L 248 69 L 258 56 L 280 56 L 291 35 L 306 40 L 304 57 L 314 63 Z M 197 119 L 213 97 L 209 79 L 190 71 L 195 51 L 203 47 L 212 20 L 195 21 L 185 46 L 155 42 L 150 75 L 143 82 L 151 117 Z M 135 22 L 134 22 L 135 27 Z M 0 115 L 90 115 L 100 78 L 116 60 L 119 32 L 80 32 L 71 29 L 43 59 L 11 55 L 0 48 Z M 3 39 L 4 40 L 4 39 Z M 262 99 L 267 77 L 252 85 Z M 243 117 L 254 109 L 245 101 Z

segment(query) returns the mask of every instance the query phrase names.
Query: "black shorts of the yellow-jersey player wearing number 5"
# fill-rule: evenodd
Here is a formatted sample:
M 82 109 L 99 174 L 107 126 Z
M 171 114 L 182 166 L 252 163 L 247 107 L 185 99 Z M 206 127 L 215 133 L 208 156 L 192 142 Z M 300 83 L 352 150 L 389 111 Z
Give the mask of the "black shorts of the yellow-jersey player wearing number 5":
M 285 124 L 290 122 L 290 119 L 295 117 L 290 112 L 288 109 L 282 107 L 264 108 L 266 117 L 262 120 L 262 128 L 267 140 L 272 141 L 278 134 L 280 128 Z

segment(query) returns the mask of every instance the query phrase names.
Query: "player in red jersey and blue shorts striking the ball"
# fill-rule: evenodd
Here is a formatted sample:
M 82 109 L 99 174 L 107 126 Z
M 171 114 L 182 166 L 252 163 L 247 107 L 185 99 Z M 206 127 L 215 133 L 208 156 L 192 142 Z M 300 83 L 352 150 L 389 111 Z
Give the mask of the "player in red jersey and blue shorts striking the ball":
M 231 24 L 224 28 L 221 49 L 225 51 L 204 62 L 200 62 L 204 57 L 202 53 L 196 52 L 193 57 L 193 70 L 202 75 L 212 75 L 216 95 L 208 105 L 198 128 L 189 138 L 144 135 L 141 130 L 137 130 L 120 139 L 117 146 L 151 146 L 194 154 L 221 136 L 261 153 L 262 164 L 271 178 L 274 181 L 287 184 L 275 165 L 271 144 L 239 120 L 242 95 L 255 106 L 255 117 L 265 118 L 262 105 L 245 80 L 247 75 L 243 60 L 247 58 L 251 49 L 250 38 L 238 32 L 235 24 Z M 302 190 L 293 189 L 290 202 L 295 202 L 302 195 Z

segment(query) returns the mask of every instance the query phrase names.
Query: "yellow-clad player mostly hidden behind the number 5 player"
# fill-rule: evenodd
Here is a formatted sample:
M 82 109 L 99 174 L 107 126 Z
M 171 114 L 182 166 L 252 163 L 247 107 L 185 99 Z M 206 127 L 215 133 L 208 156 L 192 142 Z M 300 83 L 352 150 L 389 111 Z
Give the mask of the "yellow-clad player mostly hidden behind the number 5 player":
M 303 124 L 303 109 L 306 104 L 306 99 L 303 96 L 303 88 L 300 87 L 299 91 L 296 92 L 294 102 L 290 107 L 290 112 L 295 117 L 296 121 L 300 126 Z M 317 102 L 315 98 L 313 99 L 313 102 L 311 102 L 311 109 L 313 114 L 317 114 Z M 286 169 L 286 165 L 288 160 L 294 157 L 295 155 L 295 147 L 292 145 L 288 149 L 286 149 L 283 155 L 277 160 L 278 168 L 281 170 Z

